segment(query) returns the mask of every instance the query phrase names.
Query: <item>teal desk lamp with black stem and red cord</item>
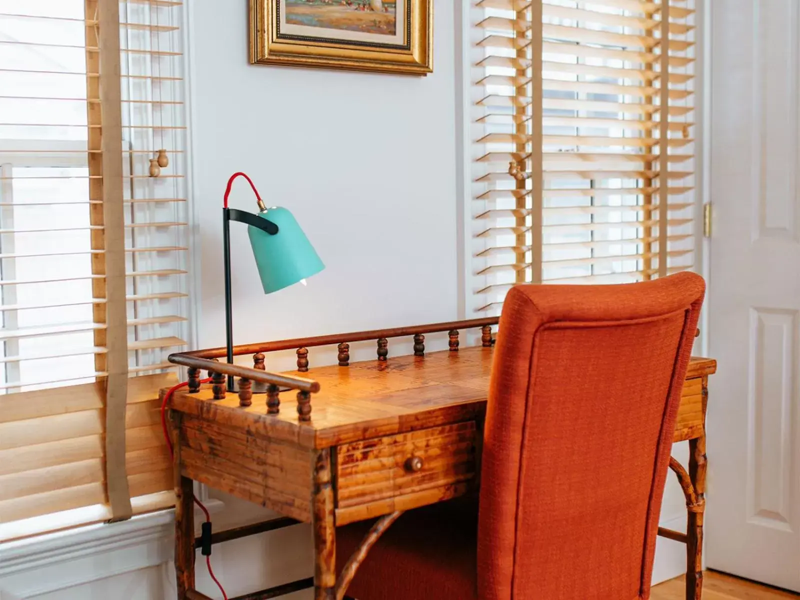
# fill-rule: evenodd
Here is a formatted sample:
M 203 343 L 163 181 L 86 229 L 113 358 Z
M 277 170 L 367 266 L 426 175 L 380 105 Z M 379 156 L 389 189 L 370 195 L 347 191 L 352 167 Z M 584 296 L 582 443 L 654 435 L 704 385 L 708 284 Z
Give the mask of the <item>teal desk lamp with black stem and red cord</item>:
M 258 201 L 258 214 L 228 207 L 228 196 L 234 179 L 242 176 L 250 183 Z M 234 173 L 228 179 L 222 207 L 222 245 L 225 262 L 225 333 L 229 364 L 234 362 L 234 320 L 230 292 L 230 222 L 246 223 L 250 246 L 264 294 L 271 294 L 318 274 L 325 265 L 314 246 L 289 210 L 266 208 L 253 181 L 244 173 Z M 234 378 L 228 376 L 228 391 L 234 391 Z

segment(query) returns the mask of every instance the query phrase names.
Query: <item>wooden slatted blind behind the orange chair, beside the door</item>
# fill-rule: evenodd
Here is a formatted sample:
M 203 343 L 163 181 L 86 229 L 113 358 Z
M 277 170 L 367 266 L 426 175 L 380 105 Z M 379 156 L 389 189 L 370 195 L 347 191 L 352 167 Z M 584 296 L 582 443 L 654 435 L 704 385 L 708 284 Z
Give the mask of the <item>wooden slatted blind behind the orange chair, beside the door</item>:
M 693 3 L 479 0 L 472 15 L 476 310 L 515 283 L 690 269 Z

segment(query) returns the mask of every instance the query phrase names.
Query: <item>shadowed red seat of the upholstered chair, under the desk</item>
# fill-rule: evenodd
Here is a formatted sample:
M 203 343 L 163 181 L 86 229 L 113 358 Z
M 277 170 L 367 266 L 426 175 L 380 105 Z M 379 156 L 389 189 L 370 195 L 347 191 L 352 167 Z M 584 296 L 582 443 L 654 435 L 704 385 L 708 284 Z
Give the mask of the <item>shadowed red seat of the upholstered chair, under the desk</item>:
M 338 570 L 373 523 L 338 528 Z M 477 600 L 477 546 L 477 498 L 409 510 L 372 547 L 346 595 L 357 600 Z

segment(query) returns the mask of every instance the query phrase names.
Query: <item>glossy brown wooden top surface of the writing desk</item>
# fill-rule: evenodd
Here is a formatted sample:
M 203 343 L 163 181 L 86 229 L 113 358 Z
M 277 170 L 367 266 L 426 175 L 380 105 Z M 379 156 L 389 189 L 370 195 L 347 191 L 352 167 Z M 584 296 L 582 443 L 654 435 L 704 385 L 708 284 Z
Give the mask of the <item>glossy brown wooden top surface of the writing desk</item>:
M 492 348 L 472 346 L 424 357 L 406 355 L 386 362 L 323 366 L 307 373 L 291 371 L 320 384 L 319 393 L 311 394 L 310 422 L 298 421 L 291 391 L 280 394 L 278 414 L 266 414 L 263 394 L 254 394 L 252 406 L 241 407 L 235 393 L 214 400 L 209 385 L 196 394 L 179 390 L 170 408 L 256 435 L 325 448 L 482 415 L 492 355 Z M 716 364 L 711 358 L 692 358 L 686 378 L 712 374 Z

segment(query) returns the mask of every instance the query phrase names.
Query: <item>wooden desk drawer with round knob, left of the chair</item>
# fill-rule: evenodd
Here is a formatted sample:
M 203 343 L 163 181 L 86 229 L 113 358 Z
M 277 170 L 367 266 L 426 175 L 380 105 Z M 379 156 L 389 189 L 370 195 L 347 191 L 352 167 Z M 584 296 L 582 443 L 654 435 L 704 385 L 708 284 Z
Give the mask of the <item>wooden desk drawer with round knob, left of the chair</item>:
M 344 514 L 367 518 L 463 494 L 477 470 L 476 436 L 467 421 L 339 446 L 337 512 L 362 506 Z

